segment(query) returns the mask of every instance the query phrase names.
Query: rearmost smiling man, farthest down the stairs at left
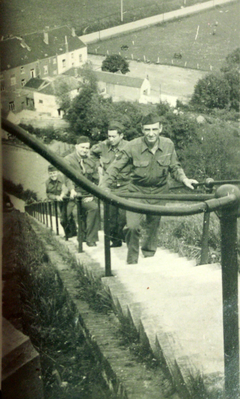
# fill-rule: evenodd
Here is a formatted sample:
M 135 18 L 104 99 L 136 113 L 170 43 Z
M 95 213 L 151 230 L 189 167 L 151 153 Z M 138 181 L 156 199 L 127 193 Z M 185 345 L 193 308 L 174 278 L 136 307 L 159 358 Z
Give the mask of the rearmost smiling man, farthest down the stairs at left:
M 60 209 L 60 221 L 64 228 L 65 235 L 73 237 L 77 234 L 77 227 L 73 215 L 69 215 L 69 223 L 66 223 L 66 212 L 64 211 L 63 199 L 68 194 L 68 188 L 65 186 L 64 176 L 58 172 L 53 165 L 48 166 L 49 178 L 46 181 L 46 194 L 49 200 L 57 200 Z

